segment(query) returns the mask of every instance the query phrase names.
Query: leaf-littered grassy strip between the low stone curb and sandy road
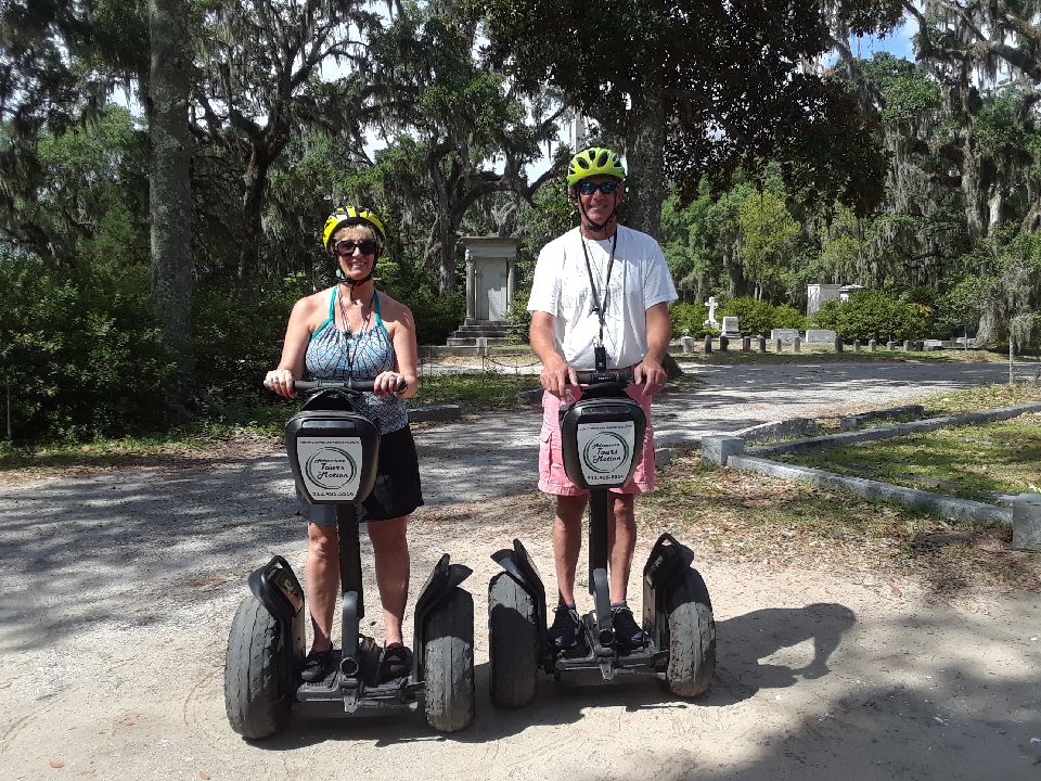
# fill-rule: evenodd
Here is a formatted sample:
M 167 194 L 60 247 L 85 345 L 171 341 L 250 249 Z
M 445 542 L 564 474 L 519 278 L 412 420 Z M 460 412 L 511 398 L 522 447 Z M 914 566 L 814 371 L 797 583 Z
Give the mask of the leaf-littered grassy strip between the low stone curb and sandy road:
M 937 592 L 1041 591 L 1041 558 L 1011 550 L 1007 525 L 954 523 L 839 490 L 703 466 L 693 451 L 673 454 L 637 508 L 646 528 L 763 571 L 859 572 L 882 588 L 888 581 L 894 593 L 912 574 Z

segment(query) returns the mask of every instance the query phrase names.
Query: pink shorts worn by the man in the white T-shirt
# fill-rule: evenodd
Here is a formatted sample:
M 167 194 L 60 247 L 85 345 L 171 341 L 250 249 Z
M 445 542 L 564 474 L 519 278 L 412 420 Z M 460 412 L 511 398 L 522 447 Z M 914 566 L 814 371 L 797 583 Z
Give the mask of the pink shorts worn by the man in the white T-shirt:
M 629 385 L 626 393 L 638 401 L 647 417 L 647 432 L 643 437 L 643 453 L 632 479 L 621 488 L 612 488 L 613 494 L 646 494 L 654 490 L 654 426 L 651 423 L 651 397 L 644 393 L 645 385 Z M 580 387 L 568 386 L 564 399 L 553 394 L 542 394 L 542 431 L 539 433 L 539 490 L 555 496 L 588 496 L 589 491 L 571 483 L 564 471 L 564 456 L 561 451 L 562 405 L 578 401 L 582 397 Z

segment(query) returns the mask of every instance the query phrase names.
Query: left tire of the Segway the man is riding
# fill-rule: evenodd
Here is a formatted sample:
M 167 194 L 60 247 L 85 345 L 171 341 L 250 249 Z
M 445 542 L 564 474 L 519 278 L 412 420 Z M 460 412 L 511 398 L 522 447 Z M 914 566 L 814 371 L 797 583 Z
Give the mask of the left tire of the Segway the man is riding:
M 539 673 L 535 601 L 506 573 L 488 585 L 488 656 L 494 705 L 522 707 L 535 699 Z

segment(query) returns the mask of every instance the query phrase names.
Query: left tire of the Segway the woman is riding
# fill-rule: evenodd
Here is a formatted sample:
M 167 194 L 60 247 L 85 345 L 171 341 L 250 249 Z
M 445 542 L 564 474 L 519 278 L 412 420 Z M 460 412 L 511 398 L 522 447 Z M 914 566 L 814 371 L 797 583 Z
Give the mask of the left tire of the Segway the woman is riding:
M 252 596 L 246 597 L 228 636 L 224 656 L 224 709 L 243 738 L 270 738 L 290 720 L 294 680 L 292 649 L 283 649 L 278 622 Z

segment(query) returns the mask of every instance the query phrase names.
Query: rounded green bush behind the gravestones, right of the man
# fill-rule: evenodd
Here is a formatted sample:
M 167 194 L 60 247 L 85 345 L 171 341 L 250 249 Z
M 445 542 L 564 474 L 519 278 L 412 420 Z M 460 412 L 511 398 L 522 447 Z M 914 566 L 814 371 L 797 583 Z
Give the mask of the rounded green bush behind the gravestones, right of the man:
M 898 300 L 878 291 L 860 291 L 849 302 L 825 302 L 811 316 L 817 328 L 831 329 L 847 342 L 860 340 L 924 338 L 931 320 L 920 306 Z

